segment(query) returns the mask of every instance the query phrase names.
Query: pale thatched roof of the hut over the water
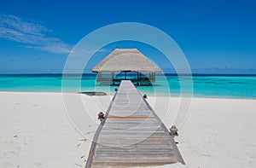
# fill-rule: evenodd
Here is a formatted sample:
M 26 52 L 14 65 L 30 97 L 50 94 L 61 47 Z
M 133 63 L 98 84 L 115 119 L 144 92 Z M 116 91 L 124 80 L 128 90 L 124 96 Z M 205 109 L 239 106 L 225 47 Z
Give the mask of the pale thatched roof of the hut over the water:
M 114 49 L 92 72 L 161 72 L 152 61 L 137 49 Z

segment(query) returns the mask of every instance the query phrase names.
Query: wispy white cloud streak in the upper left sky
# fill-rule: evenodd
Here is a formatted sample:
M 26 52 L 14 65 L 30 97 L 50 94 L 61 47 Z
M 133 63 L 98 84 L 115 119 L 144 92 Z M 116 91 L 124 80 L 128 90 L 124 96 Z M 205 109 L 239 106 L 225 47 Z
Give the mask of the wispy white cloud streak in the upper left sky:
M 9 14 L 0 14 L 0 38 L 26 43 L 26 48 L 67 54 L 73 48 L 59 38 L 49 37 L 51 30 L 29 20 Z

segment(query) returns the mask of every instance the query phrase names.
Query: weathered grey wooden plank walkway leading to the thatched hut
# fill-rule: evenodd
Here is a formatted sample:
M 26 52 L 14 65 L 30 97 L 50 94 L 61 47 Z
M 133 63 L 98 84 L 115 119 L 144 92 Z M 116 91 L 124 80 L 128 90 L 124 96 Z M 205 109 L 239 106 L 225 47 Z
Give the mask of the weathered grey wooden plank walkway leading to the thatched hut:
M 131 81 L 123 80 L 96 130 L 85 168 L 177 162 L 184 164 L 166 126 Z

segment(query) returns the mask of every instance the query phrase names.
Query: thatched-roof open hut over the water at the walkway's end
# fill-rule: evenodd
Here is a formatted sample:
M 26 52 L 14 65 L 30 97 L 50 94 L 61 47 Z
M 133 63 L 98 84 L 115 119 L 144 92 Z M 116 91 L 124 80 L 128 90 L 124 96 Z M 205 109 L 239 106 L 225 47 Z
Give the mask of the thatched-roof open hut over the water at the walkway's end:
M 138 49 L 114 49 L 96 67 L 93 67 L 92 72 L 98 73 L 97 81 L 100 83 L 110 81 L 115 84 L 115 82 L 120 82 L 121 79 L 130 79 L 136 84 L 141 84 L 142 82 L 145 84 L 145 81 L 151 84 L 155 80 L 155 72 L 161 72 L 161 70 Z M 115 72 L 123 72 L 124 78 L 115 78 Z M 103 73 L 110 73 L 111 76 L 106 78 L 106 75 L 102 75 Z M 127 75 L 128 73 L 130 76 Z M 131 73 L 136 73 L 137 78 L 134 78 Z M 148 77 L 144 75 L 145 73 L 148 73 Z

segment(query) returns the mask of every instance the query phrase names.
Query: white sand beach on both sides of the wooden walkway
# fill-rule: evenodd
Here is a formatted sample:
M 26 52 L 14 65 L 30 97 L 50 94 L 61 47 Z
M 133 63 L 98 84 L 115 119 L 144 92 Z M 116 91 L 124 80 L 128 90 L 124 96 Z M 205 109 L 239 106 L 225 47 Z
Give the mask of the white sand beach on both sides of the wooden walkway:
M 61 93 L 0 92 L 0 97 L 0 167 L 84 167 L 91 142 L 69 122 Z M 111 100 L 82 98 L 95 119 Z M 162 103 L 166 99 L 158 98 Z M 176 111 L 178 98 L 171 99 L 169 110 Z M 165 105 L 154 106 L 154 97 L 148 101 L 159 116 L 165 115 Z M 157 167 L 256 167 L 255 109 L 256 100 L 193 98 L 189 117 L 175 138 L 186 165 Z M 164 120 L 167 127 L 169 117 Z M 97 119 L 84 119 L 88 132 L 97 125 Z

